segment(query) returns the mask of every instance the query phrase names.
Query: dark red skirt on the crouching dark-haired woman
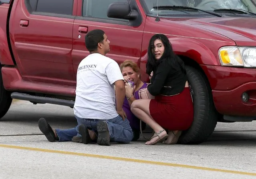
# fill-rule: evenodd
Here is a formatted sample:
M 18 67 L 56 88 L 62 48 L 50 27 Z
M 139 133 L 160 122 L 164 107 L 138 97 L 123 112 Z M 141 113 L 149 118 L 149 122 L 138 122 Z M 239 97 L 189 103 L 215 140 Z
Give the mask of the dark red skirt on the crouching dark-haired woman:
M 194 119 L 194 106 L 188 87 L 174 96 L 157 95 L 149 103 L 152 118 L 167 130 L 187 130 Z

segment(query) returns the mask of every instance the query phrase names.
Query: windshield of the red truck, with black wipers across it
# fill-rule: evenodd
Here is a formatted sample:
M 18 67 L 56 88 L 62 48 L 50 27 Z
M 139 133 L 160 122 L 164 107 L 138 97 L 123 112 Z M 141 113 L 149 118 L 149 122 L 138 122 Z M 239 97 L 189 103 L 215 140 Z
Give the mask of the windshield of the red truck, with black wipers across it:
M 200 15 L 200 16 L 210 16 L 205 12 L 200 10 L 204 10 L 207 12 L 215 12 L 215 13 L 229 13 L 234 16 L 244 16 L 244 14 L 236 13 L 236 12 L 223 12 L 223 11 L 214 11 L 219 9 L 240 9 L 244 11 L 249 11 L 256 13 L 256 0 L 141 0 L 144 4 L 145 11 L 151 15 L 156 16 L 157 11 L 159 16 L 173 16 L 173 15 Z M 173 8 L 160 8 L 157 10 L 157 2 L 158 6 L 186 6 L 197 8 L 198 10 L 192 9 L 173 9 Z M 246 14 L 246 13 L 245 13 Z M 225 14 L 226 15 L 226 14 Z M 252 16 L 252 14 L 246 14 L 246 16 Z M 254 15 L 255 16 L 255 15 Z M 255 16 L 256 17 L 256 16 Z

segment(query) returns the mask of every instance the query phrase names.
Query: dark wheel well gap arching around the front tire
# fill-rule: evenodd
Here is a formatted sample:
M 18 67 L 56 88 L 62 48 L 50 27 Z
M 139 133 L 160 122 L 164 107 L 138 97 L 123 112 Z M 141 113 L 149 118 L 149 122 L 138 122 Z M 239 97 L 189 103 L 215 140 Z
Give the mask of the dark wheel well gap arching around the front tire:
M 202 73 L 202 75 L 205 77 L 205 79 L 207 80 L 208 87 L 210 88 L 210 90 L 212 90 L 212 88 L 210 86 L 210 83 L 208 81 L 208 78 L 207 78 L 206 74 L 204 73 L 204 70 L 200 67 L 200 65 L 196 61 L 194 61 L 193 59 L 191 59 L 189 57 L 185 57 L 185 56 L 182 56 L 182 55 L 179 55 L 179 57 L 181 58 L 182 61 L 184 61 L 185 65 L 188 65 L 190 67 L 194 67 L 197 70 L 199 70 Z M 215 104 L 214 104 L 214 108 L 215 108 Z M 216 110 L 216 108 L 215 108 L 215 110 Z M 223 114 L 220 114 L 217 110 L 216 110 L 216 112 L 218 114 L 218 122 L 224 122 Z

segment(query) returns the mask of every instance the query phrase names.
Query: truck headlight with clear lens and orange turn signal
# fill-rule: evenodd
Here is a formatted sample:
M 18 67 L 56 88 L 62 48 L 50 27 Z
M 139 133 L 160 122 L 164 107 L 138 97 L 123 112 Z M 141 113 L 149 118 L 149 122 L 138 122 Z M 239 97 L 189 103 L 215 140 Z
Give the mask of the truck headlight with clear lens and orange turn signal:
M 223 66 L 256 67 L 256 47 L 222 47 L 219 57 Z

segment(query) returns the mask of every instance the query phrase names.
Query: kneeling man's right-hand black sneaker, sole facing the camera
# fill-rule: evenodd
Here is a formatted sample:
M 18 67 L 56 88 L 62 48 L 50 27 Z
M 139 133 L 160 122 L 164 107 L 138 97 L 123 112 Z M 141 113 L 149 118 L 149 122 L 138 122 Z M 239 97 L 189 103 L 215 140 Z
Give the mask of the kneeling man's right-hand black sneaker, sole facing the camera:
M 100 146 L 110 146 L 109 129 L 105 121 L 100 121 L 97 124 L 98 139 L 97 144 Z

